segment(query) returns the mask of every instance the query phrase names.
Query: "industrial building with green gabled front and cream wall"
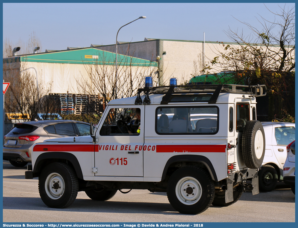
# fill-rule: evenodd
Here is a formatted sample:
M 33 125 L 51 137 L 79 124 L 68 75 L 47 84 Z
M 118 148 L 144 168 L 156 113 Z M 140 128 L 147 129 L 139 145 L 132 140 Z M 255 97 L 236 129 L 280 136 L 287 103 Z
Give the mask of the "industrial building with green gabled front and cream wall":
M 89 112 L 99 113 L 102 103 L 100 91 L 96 86 L 86 88 L 84 85 L 94 84 L 91 76 L 94 78 L 96 74 L 101 74 L 100 70 L 105 71 L 105 78 L 115 75 L 115 58 L 116 53 L 94 47 L 12 56 L 3 59 L 3 78 L 13 84 L 18 75 L 29 73 L 36 77 L 36 86 L 48 89 L 49 95 L 60 102 L 61 114 L 87 112 L 87 100 L 87 104 L 91 104 L 89 109 L 93 109 Z M 156 61 L 126 55 L 118 55 L 117 58 L 120 81 L 132 74 L 144 77 L 157 72 Z

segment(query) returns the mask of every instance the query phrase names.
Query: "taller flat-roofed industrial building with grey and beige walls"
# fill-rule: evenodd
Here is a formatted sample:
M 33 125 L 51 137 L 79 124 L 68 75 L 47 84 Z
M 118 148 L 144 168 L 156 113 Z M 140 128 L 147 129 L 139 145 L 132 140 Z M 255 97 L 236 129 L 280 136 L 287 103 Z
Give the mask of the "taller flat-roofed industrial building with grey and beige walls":
M 170 39 L 150 39 L 145 38 L 139 42 L 118 42 L 118 53 L 134 56 L 136 58 L 147 59 L 158 62 L 158 78 L 160 84 L 168 84 L 169 78 L 178 78 L 178 84 L 189 81 L 193 76 L 200 75 L 203 67 L 212 59 L 225 53 L 225 47 L 238 48 L 240 45 L 233 42 L 218 41 L 193 41 L 193 40 L 170 40 Z M 245 46 L 245 44 L 243 44 Z M 97 49 L 116 52 L 115 44 L 95 45 L 91 47 Z M 278 52 L 280 47 L 274 45 Z M 292 53 L 293 58 L 295 55 Z M 221 59 L 219 59 L 220 61 Z M 222 68 L 214 65 L 214 73 L 219 73 Z

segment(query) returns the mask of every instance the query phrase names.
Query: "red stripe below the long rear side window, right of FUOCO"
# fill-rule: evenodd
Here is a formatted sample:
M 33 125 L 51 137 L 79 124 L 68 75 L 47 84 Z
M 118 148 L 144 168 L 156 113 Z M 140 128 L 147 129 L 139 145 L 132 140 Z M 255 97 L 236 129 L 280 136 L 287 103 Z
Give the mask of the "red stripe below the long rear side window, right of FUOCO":
M 226 145 L 156 145 L 157 153 L 173 153 L 173 152 L 226 152 Z

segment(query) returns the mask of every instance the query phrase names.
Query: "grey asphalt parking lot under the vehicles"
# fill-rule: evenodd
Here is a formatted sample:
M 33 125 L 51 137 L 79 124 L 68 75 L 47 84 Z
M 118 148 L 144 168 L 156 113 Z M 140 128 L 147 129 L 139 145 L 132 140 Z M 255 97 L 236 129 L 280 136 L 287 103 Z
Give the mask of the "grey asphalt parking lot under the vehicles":
M 26 167 L 3 161 L 3 222 L 295 222 L 295 195 L 288 186 L 258 195 L 243 193 L 229 207 L 211 206 L 199 215 L 183 215 L 166 193 L 117 192 L 108 201 L 93 201 L 79 192 L 66 209 L 47 207 L 38 193 L 38 178 L 26 180 Z

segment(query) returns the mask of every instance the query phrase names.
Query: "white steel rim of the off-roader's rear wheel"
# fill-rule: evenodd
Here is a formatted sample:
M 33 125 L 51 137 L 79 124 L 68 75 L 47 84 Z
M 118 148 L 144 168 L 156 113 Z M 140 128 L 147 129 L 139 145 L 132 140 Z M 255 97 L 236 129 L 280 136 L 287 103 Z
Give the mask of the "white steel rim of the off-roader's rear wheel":
M 193 177 L 184 177 L 176 184 L 176 196 L 185 205 L 197 203 L 202 196 L 200 182 Z

